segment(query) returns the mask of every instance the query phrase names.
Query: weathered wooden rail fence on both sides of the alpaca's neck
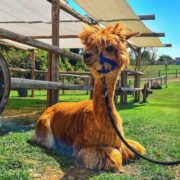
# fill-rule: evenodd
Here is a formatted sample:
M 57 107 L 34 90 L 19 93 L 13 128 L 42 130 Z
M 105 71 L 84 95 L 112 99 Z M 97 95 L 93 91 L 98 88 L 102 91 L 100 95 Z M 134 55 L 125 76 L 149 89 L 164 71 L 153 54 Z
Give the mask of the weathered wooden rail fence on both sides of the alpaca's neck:
M 31 73 L 31 69 L 22 69 L 22 68 L 9 68 L 11 72 L 20 72 L 20 73 Z M 47 71 L 34 70 L 36 74 L 43 73 L 45 76 L 47 75 Z M 140 92 L 143 91 L 143 87 L 140 87 L 141 76 L 144 73 L 140 71 L 131 71 L 124 70 L 121 74 L 121 78 L 117 83 L 116 87 L 116 96 L 120 95 L 121 103 L 127 103 L 127 95 L 128 92 L 134 93 L 134 101 L 140 101 Z M 44 89 L 44 90 L 62 90 L 63 94 L 65 90 L 85 90 L 86 94 L 90 91 L 90 97 L 92 98 L 93 92 L 93 81 L 89 72 L 59 72 L 60 82 L 51 82 L 51 81 L 42 81 L 42 80 L 30 80 L 30 79 L 22 79 L 22 78 L 11 78 L 11 89 L 17 88 L 27 88 L 27 89 Z M 128 77 L 134 79 L 133 87 L 128 86 Z M 78 78 L 83 79 L 82 85 L 75 84 L 66 84 L 66 78 Z M 47 79 L 46 79 L 47 80 Z M 167 79 L 165 77 L 157 77 L 146 79 L 148 81 L 149 86 L 153 84 L 154 81 L 160 81 L 160 84 L 167 83 Z M 73 81 L 74 82 L 74 81 Z

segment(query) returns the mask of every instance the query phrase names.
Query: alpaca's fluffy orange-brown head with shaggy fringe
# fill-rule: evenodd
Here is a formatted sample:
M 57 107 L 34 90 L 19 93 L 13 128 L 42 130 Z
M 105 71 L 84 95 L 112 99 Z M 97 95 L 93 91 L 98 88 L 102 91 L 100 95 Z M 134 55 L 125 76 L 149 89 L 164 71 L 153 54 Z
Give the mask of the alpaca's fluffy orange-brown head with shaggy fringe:
M 98 26 L 88 26 L 80 33 L 79 37 L 85 46 L 84 63 L 88 66 L 94 77 L 102 77 L 102 63 L 100 56 L 116 63 L 112 71 L 119 72 L 129 63 L 126 41 L 138 33 L 127 34 L 122 24 L 107 26 L 104 29 Z M 111 64 L 105 63 L 106 70 L 111 69 Z M 107 73 L 112 74 L 112 73 Z

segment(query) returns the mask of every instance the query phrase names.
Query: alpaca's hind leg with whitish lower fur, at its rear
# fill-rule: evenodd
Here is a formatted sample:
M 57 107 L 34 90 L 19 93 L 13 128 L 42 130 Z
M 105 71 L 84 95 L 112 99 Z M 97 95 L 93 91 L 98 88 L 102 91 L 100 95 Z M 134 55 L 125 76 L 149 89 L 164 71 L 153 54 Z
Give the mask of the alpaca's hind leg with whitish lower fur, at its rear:
M 55 146 L 55 139 L 50 125 L 50 119 L 39 119 L 36 125 L 36 133 L 32 141 L 50 149 Z

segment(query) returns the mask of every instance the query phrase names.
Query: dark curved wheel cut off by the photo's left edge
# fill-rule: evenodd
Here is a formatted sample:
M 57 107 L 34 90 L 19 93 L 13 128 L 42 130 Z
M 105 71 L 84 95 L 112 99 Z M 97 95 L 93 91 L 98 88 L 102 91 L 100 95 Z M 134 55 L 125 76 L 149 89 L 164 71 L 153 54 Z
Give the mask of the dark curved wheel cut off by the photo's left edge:
M 3 112 L 4 108 L 9 99 L 9 93 L 11 89 L 11 78 L 9 73 L 9 68 L 4 57 L 0 54 L 0 83 L 4 85 L 1 89 L 0 94 L 0 114 Z

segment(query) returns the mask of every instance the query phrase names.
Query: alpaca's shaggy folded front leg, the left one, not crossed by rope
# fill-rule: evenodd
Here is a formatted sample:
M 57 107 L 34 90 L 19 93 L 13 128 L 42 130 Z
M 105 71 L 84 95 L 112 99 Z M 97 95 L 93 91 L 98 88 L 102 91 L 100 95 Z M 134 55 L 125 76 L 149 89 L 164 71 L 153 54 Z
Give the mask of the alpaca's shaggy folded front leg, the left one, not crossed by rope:
M 121 152 L 112 147 L 88 147 L 77 153 L 77 158 L 88 169 L 120 171 Z

